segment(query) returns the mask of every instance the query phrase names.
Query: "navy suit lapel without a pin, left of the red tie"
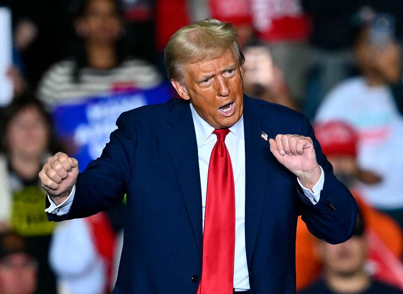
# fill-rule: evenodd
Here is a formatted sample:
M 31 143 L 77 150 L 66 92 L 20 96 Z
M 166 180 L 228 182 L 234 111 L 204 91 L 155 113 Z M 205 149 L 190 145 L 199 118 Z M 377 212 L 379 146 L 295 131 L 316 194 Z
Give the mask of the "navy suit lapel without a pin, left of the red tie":
M 196 134 L 189 103 L 174 101 L 164 132 L 201 260 L 203 226 Z

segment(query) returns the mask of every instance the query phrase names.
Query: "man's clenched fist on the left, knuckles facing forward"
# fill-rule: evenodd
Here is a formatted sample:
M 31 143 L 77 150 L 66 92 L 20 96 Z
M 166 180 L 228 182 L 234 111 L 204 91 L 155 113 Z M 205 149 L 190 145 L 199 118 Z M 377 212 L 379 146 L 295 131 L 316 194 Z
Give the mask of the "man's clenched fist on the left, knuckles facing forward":
M 62 203 L 72 192 L 79 174 L 79 162 L 76 158 L 57 152 L 47 159 L 39 172 L 43 189 L 52 197 L 56 205 Z

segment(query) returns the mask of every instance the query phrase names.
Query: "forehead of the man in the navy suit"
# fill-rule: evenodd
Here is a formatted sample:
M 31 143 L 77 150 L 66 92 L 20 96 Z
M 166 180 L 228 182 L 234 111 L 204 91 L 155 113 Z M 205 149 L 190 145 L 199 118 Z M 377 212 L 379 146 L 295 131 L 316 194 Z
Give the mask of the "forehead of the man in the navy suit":
M 237 61 L 231 48 L 226 48 L 215 55 L 206 56 L 202 59 L 198 58 L 196 61 L 185 64 L 185 75 L 214 74 L 232 65 L 236 66 Z

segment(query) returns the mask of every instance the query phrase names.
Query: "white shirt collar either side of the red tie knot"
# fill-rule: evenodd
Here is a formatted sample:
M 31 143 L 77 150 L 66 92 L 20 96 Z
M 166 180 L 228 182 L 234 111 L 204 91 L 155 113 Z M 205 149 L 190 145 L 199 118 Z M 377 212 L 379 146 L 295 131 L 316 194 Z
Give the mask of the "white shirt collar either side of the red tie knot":
M 197 147 L 203 145 L 206 140 L 214 131 L 214 127 L 210 126 L 208 122 L 201 118 L 194 109 L 192 103 L 190 103 L 190 111 L 192 113 L 194 130 L 196 132 Z M 243 114 L 238 122 L 229 128 L 230 132 L 237 136 L 239 139 L 244 140 L 244 130 L 243 130 Z

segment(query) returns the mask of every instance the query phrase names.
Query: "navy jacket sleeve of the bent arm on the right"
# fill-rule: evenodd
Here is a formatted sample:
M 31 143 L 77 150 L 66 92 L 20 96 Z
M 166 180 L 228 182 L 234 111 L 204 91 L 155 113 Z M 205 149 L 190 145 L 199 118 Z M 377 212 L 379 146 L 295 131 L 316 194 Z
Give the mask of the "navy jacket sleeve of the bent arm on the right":
M 322 153 L 314 130 L 306 117 L 304 136 L 312 138 L 316 160 L 324 172 L 324 185 L 318 203 L 313 205 L 296 183 L 301 200 L 302 220 L 317 238 L 330 244 L 343 243 L 353 236 L 357 221 L 357 203 L 347 187 L 334 177 L 333 168 Z

